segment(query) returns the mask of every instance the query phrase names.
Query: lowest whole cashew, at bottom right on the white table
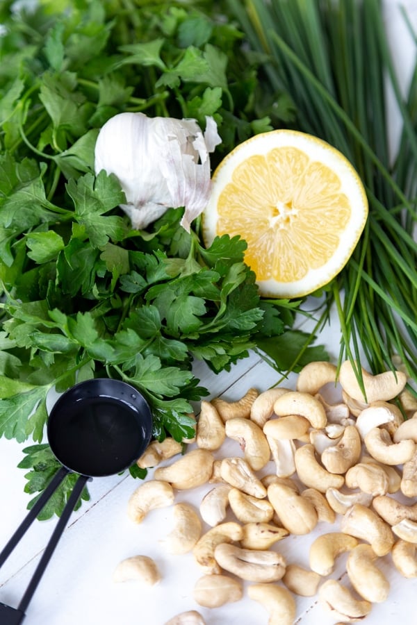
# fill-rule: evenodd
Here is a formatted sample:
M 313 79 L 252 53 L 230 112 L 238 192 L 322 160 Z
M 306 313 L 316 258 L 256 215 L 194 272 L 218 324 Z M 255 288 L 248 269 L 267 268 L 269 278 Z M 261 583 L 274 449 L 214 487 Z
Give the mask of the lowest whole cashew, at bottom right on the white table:
M 322 606 L 341 623 L 363 621 L 368 616 L 372 603 L 355 599 L 350 590 L 335 579 L 328 579 L 318 589 Z

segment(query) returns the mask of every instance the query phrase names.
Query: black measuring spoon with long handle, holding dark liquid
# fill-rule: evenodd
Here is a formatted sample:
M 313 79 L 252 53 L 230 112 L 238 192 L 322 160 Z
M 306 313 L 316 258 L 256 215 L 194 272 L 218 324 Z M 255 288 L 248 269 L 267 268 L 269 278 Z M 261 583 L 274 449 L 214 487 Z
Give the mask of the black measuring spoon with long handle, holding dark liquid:
M 110 378 L 80 382 L 63 393 L 49 414 L 47 436 L 62 467 L 0 553 L 0 567 L 69 473 L 79 474 L 19 606 L 0 602 L 0 625 L 19 625 L 74 510 L 92 477 L 115 475 L 145 451 L 152 435 L 147 401 L 130 384 Z

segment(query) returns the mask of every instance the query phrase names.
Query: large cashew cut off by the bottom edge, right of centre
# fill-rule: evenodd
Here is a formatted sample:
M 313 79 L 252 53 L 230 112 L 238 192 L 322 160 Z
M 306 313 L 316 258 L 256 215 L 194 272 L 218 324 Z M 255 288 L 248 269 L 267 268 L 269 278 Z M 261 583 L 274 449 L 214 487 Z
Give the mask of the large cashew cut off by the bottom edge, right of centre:
M 250 599 L 258 601 L 268 611 L 268 625 L 293 625 L 295 621 L 295 599 L 283 586 L 254 584 L 247 588 Z

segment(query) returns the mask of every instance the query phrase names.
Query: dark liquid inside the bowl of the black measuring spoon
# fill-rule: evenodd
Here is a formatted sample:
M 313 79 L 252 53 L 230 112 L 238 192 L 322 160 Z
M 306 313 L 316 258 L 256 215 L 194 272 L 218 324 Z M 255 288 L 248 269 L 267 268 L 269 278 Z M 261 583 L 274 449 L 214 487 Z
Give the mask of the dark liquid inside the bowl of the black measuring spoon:
M 61 406 L 48 435 L 52 451 L 65 467 L 105 476 L 137 460 L 146 433 L 133 406 L 109 397 L 86 397 Z

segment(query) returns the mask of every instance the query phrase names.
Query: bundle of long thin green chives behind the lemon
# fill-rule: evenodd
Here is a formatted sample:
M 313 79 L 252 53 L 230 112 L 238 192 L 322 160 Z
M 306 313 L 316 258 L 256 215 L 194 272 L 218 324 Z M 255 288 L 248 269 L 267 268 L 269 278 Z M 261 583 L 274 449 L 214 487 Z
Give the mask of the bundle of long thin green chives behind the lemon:
M 357 248 L 326 289 L 322 322 L 335 305 L 340 360 L 372 372 L 399 361 L 417 381 L 417 65 L 402 98 L 379 0 L 247 0 L 229 5 L 252 47 L 268 55 L 262 89 L 287 92 L 294 126 L 334 145 L 357 169 L 370 214 Z M 402 17 L 409 28 L 407 15 Z M 387 85 L 402 120 L 389 145 Z M 359 372 L 359 367 L 358 367 Z

